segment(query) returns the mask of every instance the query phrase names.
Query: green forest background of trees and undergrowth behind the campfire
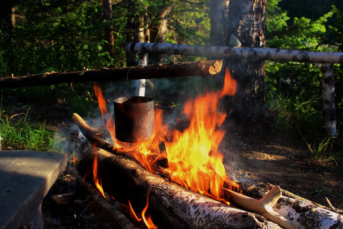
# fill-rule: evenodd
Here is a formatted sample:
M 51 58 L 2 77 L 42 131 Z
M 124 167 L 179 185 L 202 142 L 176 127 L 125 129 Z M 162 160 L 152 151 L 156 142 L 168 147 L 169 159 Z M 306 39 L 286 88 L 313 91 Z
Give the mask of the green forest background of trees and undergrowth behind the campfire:
M 112 1 L 112 18 L 104 13 L 104 2 L 3 1 L 0 9 L 0 76 L 131 66 L 132 63 L 127 63 L 123 43 L 139 32 L 130 31 L 132 23 L 139 23 L 143 33 L 150 31 L 150 42 L 210 43 L 209 0 Z M 268 0 L 267 47 L 342 52 L 342 11 L 340 0 Z M 165 25 L 163 32 L 161 25 Z M 108 28 L 113 30 L 113 50 L 108 49 L 109 42 L 105 37 Z M 150 55 L 149 63 L 200 59 Z M 343 127 L 343 68 L 335 64 L 334 71 L 336 122 L 340 134 Z M 178 108 L 182 107 L 179 95 L 185 93 L 183 89 L 197 85 L 192 80 L 151 80 L 147 81 L 147 90 L 159 105 Z M 125 81 L 102 84 L 106 84 L 105 93 L 123 92 Z M 342 158 L 342 141 L 324 136 L 321 90 L 320 64 L 266 62 L 265 99 L 272 120 L 272 126 L 268 128 L 301 139 L 308 147 L 310 157 L 315 157 L 311 158 L 315 163 L 323 156 L 319 163 L 329 159 L 337 164 Z M 56 150 L 58 142 L 51 126 L 70 119 L 74 112 L 81 116 L 99 113 L 91 82 L 1 89 L 1 95 L 0 131 L 4 149 Z M 33 106 L 39 109 L 35 111 Z M 17 115 L 19 113 L 25 115 Z M 49 123 L 46 123 L 47 119 Z M 316 142 L 316 148 L 307 144 L 310 141 Z M 336 153 L 328 153 L 333 144 Z M 325 148 L 320 149 L 320 145 Z M 323 155 L 313 155 L 319 150 L 324 150 Z

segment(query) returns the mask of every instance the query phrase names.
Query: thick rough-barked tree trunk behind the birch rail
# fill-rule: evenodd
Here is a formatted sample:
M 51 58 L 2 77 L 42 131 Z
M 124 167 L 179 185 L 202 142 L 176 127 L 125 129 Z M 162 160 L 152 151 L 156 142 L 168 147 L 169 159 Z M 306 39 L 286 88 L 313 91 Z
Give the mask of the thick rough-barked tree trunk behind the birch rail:
M 266 0 L 230 0 L 227 46 L 233 34 L 242 47 L 265 47 L 265 4 Z M 229 98 L 233 113 L 237 117 L 260 113 L 264 105 L 264 61 L 230 58 L 228 68 L 238 81 L 236 94 Z

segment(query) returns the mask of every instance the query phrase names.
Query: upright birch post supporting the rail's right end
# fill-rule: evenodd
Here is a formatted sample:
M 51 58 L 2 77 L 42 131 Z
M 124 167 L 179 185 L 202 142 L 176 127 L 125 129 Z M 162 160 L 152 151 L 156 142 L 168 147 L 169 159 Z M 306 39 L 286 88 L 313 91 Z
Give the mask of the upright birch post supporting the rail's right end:
M 333 64 L 323 63 L 320 71 L 323 82 L 323 116 L 325 132 L 327 135 L 336 136 L 336 110 Z

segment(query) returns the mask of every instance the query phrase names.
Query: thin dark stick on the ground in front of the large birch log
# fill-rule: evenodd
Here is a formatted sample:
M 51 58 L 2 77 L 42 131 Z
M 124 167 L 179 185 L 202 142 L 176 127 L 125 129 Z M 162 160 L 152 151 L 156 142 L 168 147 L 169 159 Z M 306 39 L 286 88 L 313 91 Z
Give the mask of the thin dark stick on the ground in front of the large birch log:
M 121 229 L 139 229 L 122 213 L 123 209 L 118 201 L 111 200 L 112 204 L 107 202 L 94 185 L 83 179 L 76 170 L 73 171 L 73 178 L 79 183 L 79 185 L 81 185 L 81 187 L 91 194 L 94 201 L 106 211 L 106 213 Z

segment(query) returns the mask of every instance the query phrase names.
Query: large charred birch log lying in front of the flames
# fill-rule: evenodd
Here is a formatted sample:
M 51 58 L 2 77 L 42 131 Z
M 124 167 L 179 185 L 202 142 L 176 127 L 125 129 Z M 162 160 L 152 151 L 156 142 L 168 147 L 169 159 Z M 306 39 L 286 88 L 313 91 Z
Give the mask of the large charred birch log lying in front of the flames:
M 159 175 L 144 170 L 138 163 L 113 155 L 100 148 L 94 148 L 81 137 L 75 150 L 81 155 L 79 169 L 87 172 L 93 160 L 98 160 L 98 176 L 104 191 L 118 201 L 133 204 L 134 209 L 143 209 L 149 200 L 149 210 L 155 224 L 175 229 L 220 229 L 220 228 L 277 228 L 264 217 L 249 213 L 190 191 Z

